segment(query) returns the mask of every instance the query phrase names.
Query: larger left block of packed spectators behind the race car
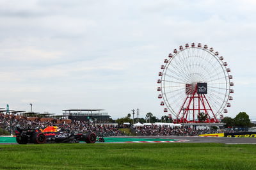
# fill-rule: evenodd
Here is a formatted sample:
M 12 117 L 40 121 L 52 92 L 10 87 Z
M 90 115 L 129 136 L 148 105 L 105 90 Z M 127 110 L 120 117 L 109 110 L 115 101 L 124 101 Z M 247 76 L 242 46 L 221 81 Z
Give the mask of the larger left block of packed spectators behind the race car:
M 72 121 L 71 123 L 56 124 L 56 121 L 44 122 L 40 120 L 27 120 L 26 118 L 17 119 L 12 115 L 0 114 L 0 127 L 4 128 L 4 130 L 7 130 L 11 134 L 15 134 L 17 127 L 40 129 L 53 125 L 76 132 L 95 132 L 97 136 L 102 137 L 124 135 L 120 130 L 118 130 L 117 125 L 93 124 L 85 121 Z

